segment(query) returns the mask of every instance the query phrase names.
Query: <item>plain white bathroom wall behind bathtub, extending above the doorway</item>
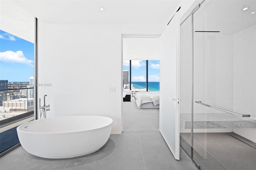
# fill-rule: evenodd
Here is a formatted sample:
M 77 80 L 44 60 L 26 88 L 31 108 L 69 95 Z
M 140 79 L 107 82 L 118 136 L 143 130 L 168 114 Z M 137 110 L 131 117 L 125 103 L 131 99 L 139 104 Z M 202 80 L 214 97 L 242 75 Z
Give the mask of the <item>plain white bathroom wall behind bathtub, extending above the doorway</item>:
M 40 21 L 40 20 L 39 20 Z M 161 34 L 165 25 L 39 22 L 39 98 L 48 117 L 102 115 L 121 133 L 121 34 Z M 115 87 L 115 92 L 109 92 Z M 68 123 L 68 122 L 67 122 Z

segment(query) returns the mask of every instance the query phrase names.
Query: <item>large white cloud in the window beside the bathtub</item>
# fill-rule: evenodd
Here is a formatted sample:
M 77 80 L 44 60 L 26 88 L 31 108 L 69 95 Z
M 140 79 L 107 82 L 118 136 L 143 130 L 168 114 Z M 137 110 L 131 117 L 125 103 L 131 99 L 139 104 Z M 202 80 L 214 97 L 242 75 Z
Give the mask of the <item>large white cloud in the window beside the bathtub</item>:
M 32 66 L 32 67 L 33 67 L 33 62 L 34 62 L 33 60 L 29 60 L 28 58 L 26 58 L 22 51 L 0 52 L 0 61 L 27 64 L 27 65 Z

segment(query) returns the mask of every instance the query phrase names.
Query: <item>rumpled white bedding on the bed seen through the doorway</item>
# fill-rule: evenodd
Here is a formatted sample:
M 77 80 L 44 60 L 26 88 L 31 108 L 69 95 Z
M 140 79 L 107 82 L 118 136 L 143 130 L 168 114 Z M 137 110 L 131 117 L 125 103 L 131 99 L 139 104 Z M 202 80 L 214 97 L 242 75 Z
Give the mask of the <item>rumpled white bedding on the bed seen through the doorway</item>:
M 159 92 L 136 92 L 134 94 L 138 108 L 144 103 L 152 102 L 154 106 L 159 105 Z

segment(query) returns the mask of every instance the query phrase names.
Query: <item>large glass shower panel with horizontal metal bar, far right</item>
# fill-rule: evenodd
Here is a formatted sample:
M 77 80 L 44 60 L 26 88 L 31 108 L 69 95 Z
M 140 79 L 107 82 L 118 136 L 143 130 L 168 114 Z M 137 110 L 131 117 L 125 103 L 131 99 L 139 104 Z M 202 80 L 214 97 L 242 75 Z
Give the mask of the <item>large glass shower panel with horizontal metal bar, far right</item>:
M 193 158 L 201 169 L 256 167 L 255 10 L 256 1 L 205 0 L 193 14 Z

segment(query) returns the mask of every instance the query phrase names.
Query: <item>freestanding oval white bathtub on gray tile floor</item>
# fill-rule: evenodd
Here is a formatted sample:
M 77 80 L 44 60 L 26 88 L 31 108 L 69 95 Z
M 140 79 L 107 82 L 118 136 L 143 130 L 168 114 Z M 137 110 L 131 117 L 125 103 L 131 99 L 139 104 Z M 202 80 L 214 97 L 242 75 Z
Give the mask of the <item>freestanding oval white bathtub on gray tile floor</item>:
M 104 116 L 60 116 L 17 127 L 22 147 L 43 158 L 90 154 L 106 144 L 113 120 Z

